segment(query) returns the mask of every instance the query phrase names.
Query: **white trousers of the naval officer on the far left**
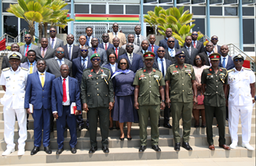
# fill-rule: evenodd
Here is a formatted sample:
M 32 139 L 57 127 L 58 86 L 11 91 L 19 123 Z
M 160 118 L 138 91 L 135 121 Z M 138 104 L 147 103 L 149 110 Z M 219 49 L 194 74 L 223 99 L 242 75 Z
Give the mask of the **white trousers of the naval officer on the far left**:
M 13 108 L 6 108 L 4 106 L 4 123 L 5 123 L 5 143 L 7 144 L 7 149 L 14 149 L 15 143 L 13 143 L 14 137 L 14 125 L 16 121 L 16 117 L 19 124 L 19 135 L 20 138 L 18 139 L 18 149 L 22 150 L 25 148 L 25 141 L 27 139 L 27 113 L 25 109 L 13 109 Z M 15 116 L 16 114 L 16 116 Z

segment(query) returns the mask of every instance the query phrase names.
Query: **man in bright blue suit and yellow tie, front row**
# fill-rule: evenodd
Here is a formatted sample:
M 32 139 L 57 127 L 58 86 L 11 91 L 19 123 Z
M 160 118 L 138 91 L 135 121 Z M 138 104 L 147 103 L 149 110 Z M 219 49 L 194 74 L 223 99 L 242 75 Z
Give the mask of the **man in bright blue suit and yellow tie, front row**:
M 29 54 L 30 52 L 27 52 Z M 42 145 L 46 153 L 52 153 L 49 145 L 50 138 L 50 117 L 52 82 L 55 79 L 53 74 L 46 72 L 46 61 L 38 60 L 36 67 L 38 72 L 29 74 L 27 77 L 24 108 L 27 114 L 32 114 L 34 118 L 34 148 L 31 155 L 38 153 Z M 33 105 L 33 111 L 29 104 Z M 43 138 L 42 138 L 43 129 Z

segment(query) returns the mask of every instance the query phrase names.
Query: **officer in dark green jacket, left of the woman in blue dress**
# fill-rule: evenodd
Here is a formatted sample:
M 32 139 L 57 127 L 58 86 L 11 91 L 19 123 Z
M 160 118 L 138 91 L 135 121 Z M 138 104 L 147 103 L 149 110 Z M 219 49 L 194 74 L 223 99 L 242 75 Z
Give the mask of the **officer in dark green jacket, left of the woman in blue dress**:
M 81 99 L 83 110 L 88 111 L 90 126 L 89 153 L 97 150 L 97 120 L 100 119 L 102 150 L 108 150 L 108 125 L 109 110 L 114 105 L 114 88 L 112 84 L 111 72 L 107 68 L 101 67 L 101 56 L 94 53 L 90 56 L 93 67 L 87 68 L 82 73 Z

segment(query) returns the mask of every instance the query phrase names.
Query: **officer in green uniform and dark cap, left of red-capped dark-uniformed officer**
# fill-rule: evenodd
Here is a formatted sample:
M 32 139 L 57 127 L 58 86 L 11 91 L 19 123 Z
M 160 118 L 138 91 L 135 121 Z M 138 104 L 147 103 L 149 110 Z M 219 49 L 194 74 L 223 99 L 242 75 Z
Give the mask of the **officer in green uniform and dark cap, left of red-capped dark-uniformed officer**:
M 192 65 L 185 63 L 185 53 L 183 51 L 178 51 L 175 59 L 177 63 L 168 67 L 165 77 L 166 105 L 170 107 L 173 117 L 174 150 L 179 151 L 181 147 L 181 136 L 179 134 L 179 121 L 181 118 L 183 121 L 182 147 L 186 150 L 192 150 L 192 147 L 189 146 L 188 139 L 191 128 L 193 102 L 195 104 L 197 103 L 196 76 Z

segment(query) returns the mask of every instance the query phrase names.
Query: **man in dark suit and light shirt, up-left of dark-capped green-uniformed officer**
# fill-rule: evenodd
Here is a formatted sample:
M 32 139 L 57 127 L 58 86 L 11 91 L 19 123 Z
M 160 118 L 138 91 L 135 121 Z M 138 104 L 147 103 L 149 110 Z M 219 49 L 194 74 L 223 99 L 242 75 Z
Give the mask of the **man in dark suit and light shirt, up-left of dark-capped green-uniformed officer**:
M 175 59 L 175 55 L 176 55 L 176 52 L 178 52 L 178 49 L 174 48 L 175 38 L 174 37 L 168 38 L 167 45 L 168 45 L 168 48 L 165 49 L 166 54 L 164 55 L 164 58 L 166 60 L 170 60 L 173 64 L 177 63 L 177 60 Z

